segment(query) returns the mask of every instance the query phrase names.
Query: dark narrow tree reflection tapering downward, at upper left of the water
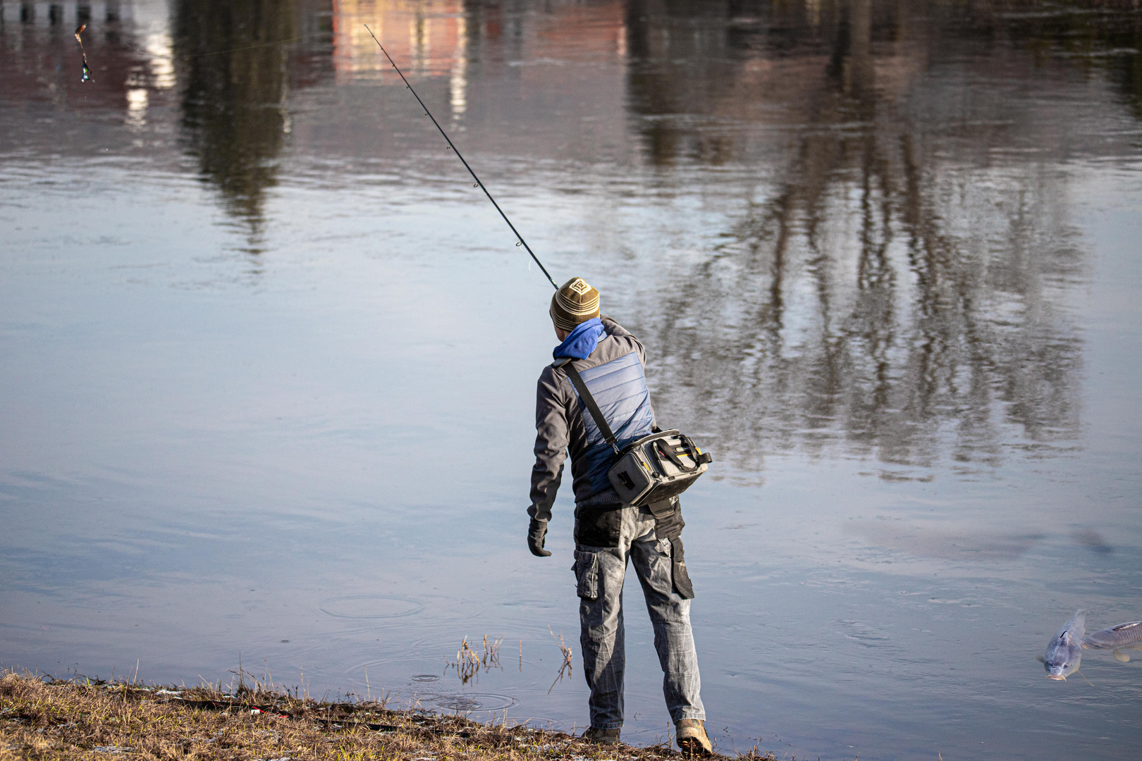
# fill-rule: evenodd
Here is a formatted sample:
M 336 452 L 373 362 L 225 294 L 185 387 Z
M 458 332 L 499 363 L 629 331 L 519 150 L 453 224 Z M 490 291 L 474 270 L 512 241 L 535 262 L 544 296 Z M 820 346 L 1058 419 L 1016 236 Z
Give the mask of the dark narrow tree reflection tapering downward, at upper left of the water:
M 293 5 L 180 0 L 175 6 L 187 143 L 230 211 L 255 232 L 288 126 L 287 47 L 265 43 L 295 37 Z

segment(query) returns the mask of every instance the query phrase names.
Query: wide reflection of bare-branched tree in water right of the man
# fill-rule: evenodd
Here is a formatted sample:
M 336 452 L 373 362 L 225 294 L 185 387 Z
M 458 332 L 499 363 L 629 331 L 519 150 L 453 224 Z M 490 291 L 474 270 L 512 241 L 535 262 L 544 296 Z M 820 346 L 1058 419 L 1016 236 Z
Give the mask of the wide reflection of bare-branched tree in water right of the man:
M 1061 302 L 1081 254 L 1061 177 L 1030 162 L 995 171 L 948 160 L 972 155 L 980 136 L 941 135 L 947 120 L 1014 122 L 986 133 L 999 146 L 1020 139 L 1021 124 L 1002 103 L 986 106 L 997 114 L 967 102 L 955 113 L 936 88 L 898 100 L 909 67 L 923 70 L 909 58 L 930 55 L 916 47 L 899 55 L 915 44 L 908 30 L 920 26 L 906 5 L 822 2 L 810 26 L 805 3 L 755 3 L 759 27 L 782 29 L 780 54 L 754 51 L 740 30 L 721 42 L 695 33 L 673 48 L 674 37 L 654 29 L 653 3 L 634 5 L 642 7 L 628 18 L 641 21 L 628 35 L 640 60 L 628 84 L 635 110 L 651 118 L 642 130 L 651 161 L 689 152 L 713 162 L 693 147 L 716 130 L 673 118 L 686 108 L 676 87 L 684 78 L 671 66 L 689 67 L 687 56 L 719 60 L 687 75 L 698 78 L 687 91 L 705 92 L 691 114 L 757 121 L 757 100 L 785 81 L 798 89 L 782 94 L 796 104 L 788 121 L 799 124 L 785 168 L 715 254 L 674 278 L 658 316 L 643 319 L 665 353 L 660 405 L 691 411 L 689 427 L 746 460 L 843 439 L 886 462 L 926 464 L 949 453 L 971 467 L 998 462 L 1011 439 L 1004 426 L 1032 451 L 1077 437 L 1081 345 Z M 661 25 L 685 26 L 686 13 L 706 7 L 670 3 Z M 805 41 L 790 56 L 796 18 Z M 711 26 L 707 16 L 695 27 Z M 895 56 L 884 55 L 888 42 Z M 772 74 L 749 73 L 758 58 Z M 748 136 L 722 131 L 723 157 L 750 156 Z M 949 147 L 957 140 L 965 151 Z

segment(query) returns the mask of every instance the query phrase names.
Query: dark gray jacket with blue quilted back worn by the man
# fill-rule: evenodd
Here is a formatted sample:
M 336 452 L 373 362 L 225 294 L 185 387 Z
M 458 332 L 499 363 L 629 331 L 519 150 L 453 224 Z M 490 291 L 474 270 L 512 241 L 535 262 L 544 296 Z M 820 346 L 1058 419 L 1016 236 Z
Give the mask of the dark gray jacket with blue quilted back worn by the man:
M 637 431 L 638 435 L 649 432 L 649 428 L 654 426 L 654 411 L 650 405 L 650 395 L 645 390 L 643 369 L 646 365 L 646 350 L 638 339 L 619 325 L 617 322 L 601 315 L 601 322 L 606 334 L 598 340 L 595 350 L 586 359 L 576 359 L 576 367 L 584 377 L 592 395 L 608 415 L 611 428 L 616 430 L 616 436 L 620 438 L 622 445 L 622 432 L 620 429 L 627 420 L 640 421 L 638 428 L 648 430 Z M 629 361 L 622 357 L 635 354 L 637 364 L 633 367 Z M 619 362 L 616 362 L 619 361 Z M 621 420 L 612 420 L 610 408 L 605 398 L 601 398 L 595 383 L 589 380 L 590 370 L 613 363 L 612 366 L 627 365 L 636 373 L 629 386 L 641 388 L 643 400 L 637 405 L 637 410 L 632 411 L 629 404 L 622 412 Z M 555 501 L 555 493 L 563 478 L 563 461 L 566 452 L 571 453 L 571 472 L 574 477 L 574 499 L 577 505 L 584 504 L 612 504 L 620 502 L 618 493 L 605 479 L 605 468 L 603 478 L 600 478 L 600 463 L 592 462 L 600 456 L 612 456 L 610 447 L 601 453 L 601 435 L 594 421 L 585 423 L 582 404 L 576 392 L 566 371 L 560 366 L 560 362 L 553 363 L 544 369 L 539 377 L 539 386 L 536 391 L 536 464 L 531 469 L 531 507 L 528 515 L 537 520 L 549 520 L 552 517 L 552 503 Z M 610 369 L 601 370 L 605 373 Z M 629 374 L 629 371 L 628 371 Z M 637 390 L 637 389 L 636 389 Z M 606 391 L 603 391 L 605 394 Z M 629 403 L 630 397 L 627 397 Z M 622 402 L 618 402 L 621 406 Z M 649 424 L 648 424 L 649 423 Z M 605 464 L 605 463 L 604 463 Z

